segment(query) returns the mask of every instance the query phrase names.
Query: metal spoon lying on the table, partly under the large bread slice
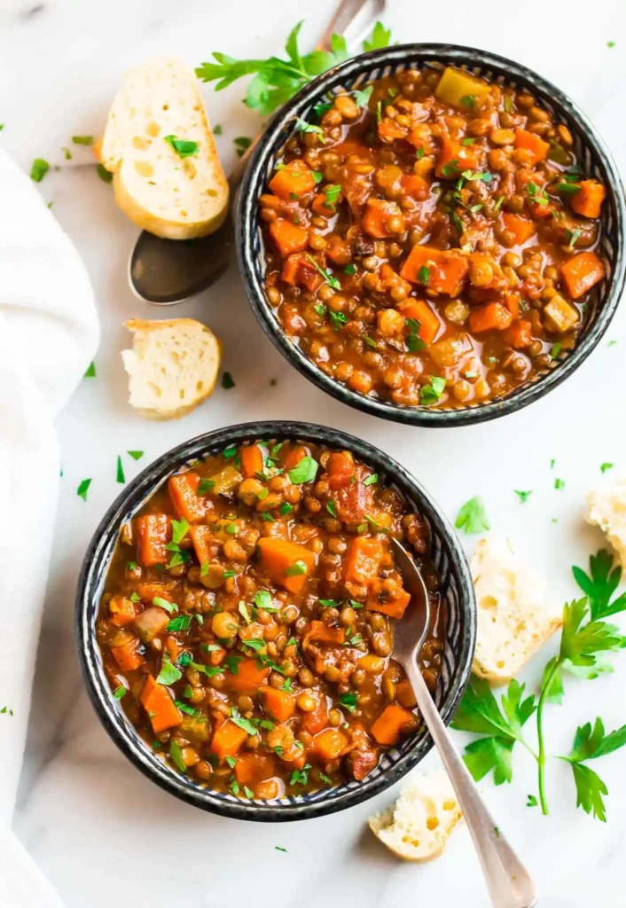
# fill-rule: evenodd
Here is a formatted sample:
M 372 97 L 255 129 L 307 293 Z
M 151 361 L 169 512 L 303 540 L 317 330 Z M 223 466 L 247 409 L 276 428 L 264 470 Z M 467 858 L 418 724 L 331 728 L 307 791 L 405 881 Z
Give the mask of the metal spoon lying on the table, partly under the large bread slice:
M 369 8 L 368 8 L 369 7 Z M 385 0 L 343 0 L 324 31 L 318 50 L 331 49 L 331 35 L 345 35 L 354 46 L 383 15 Z M 231 211 L 219 230 L 199 240 L 164 240 L 142 231 L 128 263 L 128 282 L 135 296 L 154 306 L 172 306 L 205 290 L 226 271 L 234 259 L 234 193 L 259 133 L 228 178 Z

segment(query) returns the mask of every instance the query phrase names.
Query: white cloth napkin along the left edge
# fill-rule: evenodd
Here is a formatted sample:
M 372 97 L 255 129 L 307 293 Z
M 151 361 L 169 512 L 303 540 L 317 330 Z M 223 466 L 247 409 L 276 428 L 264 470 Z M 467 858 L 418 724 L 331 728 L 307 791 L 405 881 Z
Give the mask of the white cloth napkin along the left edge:
M 83 263 L 34 184 L 0 151 L 0 908 L 61 904 L 10 823 L 59 486 L 54 419 L 97 342 Z

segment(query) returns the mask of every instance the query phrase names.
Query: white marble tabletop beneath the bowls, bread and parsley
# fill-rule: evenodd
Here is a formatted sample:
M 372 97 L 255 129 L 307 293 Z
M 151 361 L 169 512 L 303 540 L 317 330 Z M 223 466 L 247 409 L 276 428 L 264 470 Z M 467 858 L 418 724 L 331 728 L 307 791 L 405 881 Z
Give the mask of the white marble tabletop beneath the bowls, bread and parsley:
M 531 65 L 591 115 L 623 167 L 623 5 L 615 0 L 592 5 L 448 0 L 431 6 L 392 0 L 385 21 L 402 40 L 474 44 Z M 103 325 L 97 378 L 84 380 L 58 421 L 63 489 L 15 817 L 18 834 L 68 908 L 104 908 L 112 901 L 170 908 L 183 899 L 198 908 L 244 900 L 258 908 L 279 901 L 299 908 L 487 904 L 465 831 L 454 836 L 440 861 L 425 866 L 400 864 L 373 842 L 364 818 L 391 800 L 391 792 L 373 804 L 303 824 L 244 824 L 178 803 L 117 753 L 82 690 L 72 611 L 84 548 L 120 489 L 118 454 L 144 449 L 139 464 L 124 456 L 130 478 L 174 444 L 242 419 L 303 418 L 341 426 L 411 468 L 451 517 L 466 498 L 481 494 L 493 530 L 510 537 L 545 571 L 559 601 L 575 594 L 571 564 L 584 564 L 601 543 L 599 534 L 582 523 L 586 490 L 600 479 L 601 462 L 626 469 L 623 311 L 609 334 L 618 344 L 609 348 L 603 341 L 571 380 L 531 409 L 452 432 L 409 429 L 343 407 L 287 367 L 254 321 L 233 269 L 214 290 L 176 314 L 204 319 L 223 339 L 224 367 L 233 373 L 236 388 L 217 390 L 194 414 L 169 424 L 145 422 L 127 406 L 119 356 L 127 336 L 121 322 L 154 314 L 126 285 L 135 229 L 114 208 L 110 187 L 98 180 L 93 166 L 76 166 L 90 161 L 88 150 L 76 148 L 73 161 L 66 163 L 62 146 L 73 133 L 99 133 L 129 64 L 156 53 L 183 54 L 191 64 L 213 50 L 263 56 L 282 47 L 298 15 L 306 19 L 305 42 L 313 43 L 332 8 L 333 0 L 301 0 L 297 11 L 278 0 L 0 0 L 0 122 L 5 123 L 0 141 L 25 168 L 35 156 L 61 166 L 41 183 L 41 192 L 54 202 L 55 215 L 84 256 Z M 616 46 L 609 49 L 607 41 Z M 242 94 L 238 85 L 221 94 L 208 86 L 205 91 L 213 122 L 223 124 L 218 141 L 227 166 L 234 136 L 252 134 L 257 126 L 256 115 L 241 104 Z M 270 378 L 277 379 L 275 387 Z M 566 480 L 563 491 L 553 489 L 555 475 Z M 84 503 L 75 490 L 87 477 L 93 483 Z M 533 489 L 533 494 L 521 505 L 513 489 Z M 542 661 L 527 672 L 532 685 Z M 571 682 L 563 706 L 549 711 L 551 751 L 569 748 L 575 726 L 596 715 L 611 728 L 626 722 L 624 683 L 626 656 L 609 678 Z M 524 755 L 515 755 L 512 785 L 484 786 L 502 827 L 536 877 L 540 904 L 612 908 L 626 903 L 621 858 L 625 753 L 597 765 L 611 792 L 607 824 L 575 810 L 564 765 L 550 767 L 548 818 L 524 805 L 526 795 L 536 791 Z

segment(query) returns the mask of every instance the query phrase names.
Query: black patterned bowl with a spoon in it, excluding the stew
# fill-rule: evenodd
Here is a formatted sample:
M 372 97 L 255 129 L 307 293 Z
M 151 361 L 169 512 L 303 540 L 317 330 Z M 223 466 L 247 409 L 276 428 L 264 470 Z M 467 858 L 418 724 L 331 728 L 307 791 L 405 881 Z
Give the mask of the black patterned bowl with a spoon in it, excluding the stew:
M 260 438 L 303 439 L 350 449 L 384 482 L 402 492 L 426 520 L 432 539 L 430 558 L 441 577 L 442 600 L 448 610 L 442 676 L 435 700 L 444 721 L 452 720 L 470 676 L 476 637 L 472 577 L 462 548 L 441 510 L 406 469 L 373 445 L 323 426 L 304 422 L 248 422 L 217 429 L 168 451 L 144 469 L 108 509 L 87 549 L 76 593 L 75 635 L 84 681 L 94 709 L 114 743 L 144 775 L 172 795 L 214 814 L 243 820 L 302 820 L 332 814 L 382 792 L 429 752 L 432 747 L 430 735 L 419 733 L 388 751 L 363 782 L 352 781 L 311 795 L 273 801 L 244 801 L 234 795 L 223 795 L 169 769 L 146 747 L 126 719 L 119 701 L 114 699 L 95 639 L 95 621 L 104 579 L 124 521 L 185 464 L 217 454 L 229 445 Z

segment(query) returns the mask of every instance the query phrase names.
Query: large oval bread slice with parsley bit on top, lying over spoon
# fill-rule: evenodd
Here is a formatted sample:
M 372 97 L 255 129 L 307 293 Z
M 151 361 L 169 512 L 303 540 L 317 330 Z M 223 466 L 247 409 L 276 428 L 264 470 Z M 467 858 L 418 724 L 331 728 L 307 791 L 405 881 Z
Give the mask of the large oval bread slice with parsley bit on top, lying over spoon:
M 181 157 L 172 137 L 197 151 Z M 98 152 L 114 174 L 115 202 L 138 227 L 191 240 L 224 221 L 228 183 L 194 71 L 182 61 L 149 60 L 128 74 Z

